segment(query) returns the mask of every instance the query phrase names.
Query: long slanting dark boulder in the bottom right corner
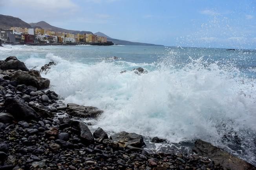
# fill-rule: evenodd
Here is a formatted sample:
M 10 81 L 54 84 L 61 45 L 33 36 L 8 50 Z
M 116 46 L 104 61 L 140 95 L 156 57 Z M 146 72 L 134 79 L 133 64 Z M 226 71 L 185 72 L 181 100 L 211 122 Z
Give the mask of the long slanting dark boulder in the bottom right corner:
M 228 152 L 219 149 L 218 147 L 213 146 L 212 144 L 202 141 L 196 140 L 195 146 L 192 149 L 197 155 L 208 157 L 214 163 L 220 164 L 224 168 L 232 169 L 232 170 L 251 170 L 256 169 L 255 166 L 239 159 L 238 157 L 232 156 Z

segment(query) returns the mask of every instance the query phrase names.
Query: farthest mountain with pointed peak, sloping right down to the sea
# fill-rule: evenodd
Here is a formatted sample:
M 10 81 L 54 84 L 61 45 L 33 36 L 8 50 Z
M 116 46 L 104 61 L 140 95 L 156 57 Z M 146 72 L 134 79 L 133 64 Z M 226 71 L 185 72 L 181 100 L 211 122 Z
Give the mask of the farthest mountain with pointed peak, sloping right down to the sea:
M 150 45 L 150 46 L 162 46 L 162 45 L 155 45 L 155 44 L 149 44 L 149 43 L 138 43 L 138 42 L 132 42 L 132 41 L 126 41 L 121 39 L 115 39 L 107 36 L 106 34 L 102 32 L 96 32 L 94 35 L 106 37 L 108 41 L 112 41 L 114 44 L 118 45 Z

